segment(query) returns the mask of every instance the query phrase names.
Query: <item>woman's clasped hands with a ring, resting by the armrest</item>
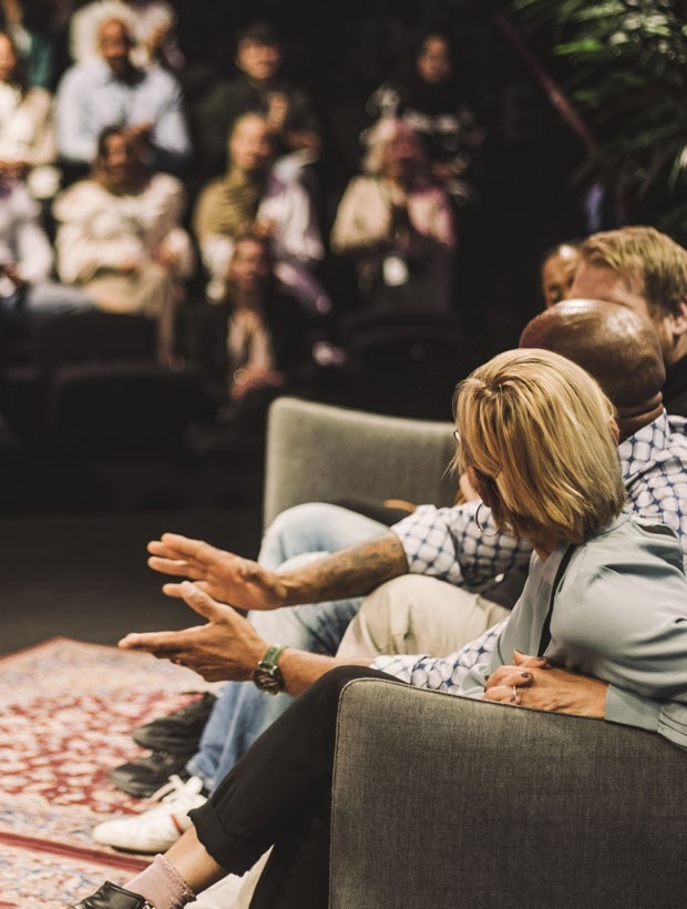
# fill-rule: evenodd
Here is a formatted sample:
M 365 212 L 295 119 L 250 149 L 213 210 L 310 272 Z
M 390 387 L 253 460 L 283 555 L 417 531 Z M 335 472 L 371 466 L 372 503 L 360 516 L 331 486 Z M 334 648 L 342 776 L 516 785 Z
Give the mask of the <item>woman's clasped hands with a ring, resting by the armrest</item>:
M 484 699 L 501 704 L 602 718 L 608 684 L 551 666 L 544 656 L 513 651 L 513 665 L 499 666 L 486 680 Z

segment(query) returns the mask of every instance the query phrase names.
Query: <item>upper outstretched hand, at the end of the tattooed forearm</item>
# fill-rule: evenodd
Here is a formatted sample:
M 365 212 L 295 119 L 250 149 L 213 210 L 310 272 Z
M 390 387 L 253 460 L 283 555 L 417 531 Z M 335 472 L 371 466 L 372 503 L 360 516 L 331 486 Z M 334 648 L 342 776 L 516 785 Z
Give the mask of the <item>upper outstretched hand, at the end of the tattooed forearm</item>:
M 286 589 L 279 575 L 250 559 L 191 540 L 177 533 L 163 533 L 147 544 L 148 565 L 162 574 L 185 578 L 222 603 L 244 610 L 270 610 L 284 604 Z M 166 583 L 163 593 L 186 599 L 183 584 Z

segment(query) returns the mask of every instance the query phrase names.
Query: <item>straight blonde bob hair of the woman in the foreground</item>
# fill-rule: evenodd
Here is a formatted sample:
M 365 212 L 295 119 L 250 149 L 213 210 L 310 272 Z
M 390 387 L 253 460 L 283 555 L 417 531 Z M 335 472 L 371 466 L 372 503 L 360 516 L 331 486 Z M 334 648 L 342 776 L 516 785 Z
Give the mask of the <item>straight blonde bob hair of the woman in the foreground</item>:
M 582 543 L 625 502 L 614 408 L 597 382 L 550 350 L 499 354 L 457 386 L 454 467 L 483 481 L 496 524 L 536 545 Z

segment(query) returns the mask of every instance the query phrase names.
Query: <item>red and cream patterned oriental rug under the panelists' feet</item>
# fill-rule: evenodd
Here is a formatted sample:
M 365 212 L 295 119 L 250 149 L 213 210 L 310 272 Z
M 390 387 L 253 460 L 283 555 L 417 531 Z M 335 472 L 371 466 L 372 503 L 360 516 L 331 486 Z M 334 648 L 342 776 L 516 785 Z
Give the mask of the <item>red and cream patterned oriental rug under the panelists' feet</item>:
M 113 813 L 150 807 L 107 770 L 146 754 L 135 726 L 216 687 L 148 654 L 64 637 L 0 658 L 2 909 L 63 909 L 148 864 L 90 837 Z

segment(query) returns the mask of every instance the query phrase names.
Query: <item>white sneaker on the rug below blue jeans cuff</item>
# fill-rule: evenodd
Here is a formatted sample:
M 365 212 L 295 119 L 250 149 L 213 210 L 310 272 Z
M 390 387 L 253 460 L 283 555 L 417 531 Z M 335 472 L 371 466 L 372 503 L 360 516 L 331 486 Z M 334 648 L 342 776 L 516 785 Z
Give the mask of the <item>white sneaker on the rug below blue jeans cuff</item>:
M 151 798 L 160 801 L 154 808 L 140 815 L 119 817 L 99 824 L 93 830 L 93 839 L 103 846 L 113 846 L 130 852 L 164 852 L 191 827 L 187 813 L 207 801 L 201 795 L 203 780 L 197 776 L 183 783 L 178 776 Z

